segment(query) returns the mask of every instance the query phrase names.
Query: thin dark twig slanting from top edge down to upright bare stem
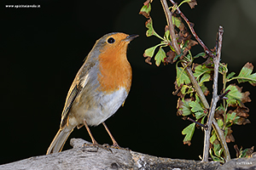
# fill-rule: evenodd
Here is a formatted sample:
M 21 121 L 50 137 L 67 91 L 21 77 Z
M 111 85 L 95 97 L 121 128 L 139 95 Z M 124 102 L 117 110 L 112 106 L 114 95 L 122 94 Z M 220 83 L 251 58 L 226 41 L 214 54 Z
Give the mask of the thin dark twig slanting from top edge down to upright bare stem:
M 173 0 L 170 0 L 170 2 L 175 5 L 176 3 Z M 187 19 L 187 17 L 181 12 L 181 10 L 179 8 L 177 8 L 177 14 L 180 14 L 181 17 L 183 18 L 183 20 L 185 20 L 185 22 L 187 23 L 187 25 L 189 26 L 190 31 L 192 32 L 193 36 L 195 37 L 195 39 L 197 40 L 197 42 L 200 43 L 201 47 L 204 48 L 204 51 L 206 52 L 207 55 L 209 55 L 210 57 L 214 58 L 215 55 L 212 54 L 212 52 L 207 48 L 207 46 L 204 44 L 204 42 L 201 41 L 200 37 L 197 36 L 197 34 L 195 33 L 195 30 L 193 28 L 193 23 L 189 22 L 189 20 Z

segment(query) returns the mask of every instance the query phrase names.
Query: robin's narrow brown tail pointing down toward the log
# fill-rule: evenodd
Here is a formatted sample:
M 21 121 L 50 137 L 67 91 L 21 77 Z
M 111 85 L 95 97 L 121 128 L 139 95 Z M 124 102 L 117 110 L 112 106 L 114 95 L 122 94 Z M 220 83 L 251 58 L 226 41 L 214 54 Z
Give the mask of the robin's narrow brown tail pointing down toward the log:
M 73 127 L 71 127 L 71 126 L 66 125 L 65 127 L 60 128 L 58 133 L 56 133 L 56 135 L 55 135 L 55 139 L 53 139 L 53 141 L 49 145 L 46 155 L 60 152 L 62 150 L 69 134 L 72 133 L 72 131 L 73 131 Z

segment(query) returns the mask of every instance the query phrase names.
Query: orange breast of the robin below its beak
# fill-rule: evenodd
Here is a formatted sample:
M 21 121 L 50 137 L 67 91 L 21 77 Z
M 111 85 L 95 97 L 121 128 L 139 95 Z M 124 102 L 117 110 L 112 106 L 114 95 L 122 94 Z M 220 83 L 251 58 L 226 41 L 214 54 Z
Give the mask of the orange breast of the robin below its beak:
M 125 47 L 124 47 L 125 46 Z M 99 55 L 98 82 L 100 90 L 111 93 L 125 88 L 128 94 L 131 88 L 131 65 L 126 59 L 127 44 L 104 48 Z

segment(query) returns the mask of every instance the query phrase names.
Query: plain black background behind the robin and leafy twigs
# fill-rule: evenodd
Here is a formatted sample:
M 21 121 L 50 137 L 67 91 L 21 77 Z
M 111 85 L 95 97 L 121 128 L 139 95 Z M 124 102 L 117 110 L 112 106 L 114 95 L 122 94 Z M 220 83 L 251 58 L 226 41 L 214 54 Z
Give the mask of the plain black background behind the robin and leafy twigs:
M 183 145 L 181 131 L 190 122 L 176 116 L 173 96 L 175 65 L 148 65 L 143 51 L 158 42 L 146 37 L 146 19 L 139 15 L 143 0 L 132 1 L 11 1 L 0 2 L 1 55 L 1 158 L 0 164 L 46 153 L 59 129 L 67 91 L 84 57 L 96 39 L 108 32 L 139 34 L 131 42 L 128 59 L 133 69 L 131 92 L 125 106 L 107 121 L 119 145 L 153 156 L 199 160 L 203 133 L 195 130 L 192 145 Z M 39 4 L 40 8 L 5 8 L 5 5 Z M 256 64 L 256 3 L 248 0 L 203 1 L 195 9 L 182 5 L 183 13 L 195 23 L 195 31 L 209 48 L 215 45 L 218 26 L 224 26 L 222 61 L 239 73 L 250 61 Z M 166 18 L 159 1 L 152 3 L 154 29 L 163 35 Z M 202 48 L 192 48 L 198 54 Z M 246 126 L 233 126 L 235 144 L 255 145 L 256 88 Z M 212 85 L 210 84 L 210 88 Z M 209 99 L 210 102 L 210 99 Z M 102 125 L 91 127 L 100 144 L 112 144 Z M 70 138 L 90 141 L 85 128 L 75 129 Z M 70 149 L 69 139 L 64 150 Z M 229 144 L 235 157 L 234 143 Z

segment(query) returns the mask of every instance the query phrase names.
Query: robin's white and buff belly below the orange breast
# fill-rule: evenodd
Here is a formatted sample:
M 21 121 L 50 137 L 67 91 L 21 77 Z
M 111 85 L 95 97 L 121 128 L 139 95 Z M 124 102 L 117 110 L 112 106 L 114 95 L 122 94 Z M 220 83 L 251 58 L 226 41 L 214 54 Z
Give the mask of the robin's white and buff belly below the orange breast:
M 81 94 L 73 105 L 69 123 L 77 126 L 78 122 L 84 124 L 85 120 L 89 126 L 97 126 L 105 122 L 109 116 L 112 116 L 119 109 L 127 95 L 125 88 L 119 88 L 113 94 L 97 94 L 92 99 L 88 99 L 86 96 L 83 97 Z M 81 100 L 85 102 L 79 102 Z M 88 103 L 94 103 L 94 105 Z

